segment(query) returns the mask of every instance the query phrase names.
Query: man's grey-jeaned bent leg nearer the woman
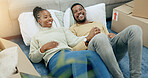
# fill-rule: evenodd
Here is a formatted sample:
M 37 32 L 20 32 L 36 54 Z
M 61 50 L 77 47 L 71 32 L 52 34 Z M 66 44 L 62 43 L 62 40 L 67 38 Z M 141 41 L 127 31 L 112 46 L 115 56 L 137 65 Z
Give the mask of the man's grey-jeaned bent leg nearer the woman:
M 114 78 L 124 78 L 107 35 L 100 33 L 94 36 L 89 42 L 88 50 L 100 55 Z

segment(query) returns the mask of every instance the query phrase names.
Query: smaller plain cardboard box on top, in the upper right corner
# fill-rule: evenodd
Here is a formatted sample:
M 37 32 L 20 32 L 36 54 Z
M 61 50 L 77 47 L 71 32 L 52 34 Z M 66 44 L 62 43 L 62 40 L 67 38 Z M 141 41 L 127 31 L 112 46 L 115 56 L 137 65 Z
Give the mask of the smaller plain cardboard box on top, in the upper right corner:
M 148 0 L 134 0 L 133 15 L 148 18 Z

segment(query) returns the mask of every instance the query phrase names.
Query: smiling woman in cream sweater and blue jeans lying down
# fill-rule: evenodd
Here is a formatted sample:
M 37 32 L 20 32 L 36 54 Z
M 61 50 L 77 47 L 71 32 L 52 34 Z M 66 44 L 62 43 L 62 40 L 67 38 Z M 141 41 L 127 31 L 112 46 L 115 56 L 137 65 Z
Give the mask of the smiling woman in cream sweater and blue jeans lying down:
M 64 28 L 52 28 L 51 14 L 41 7 L 35 7 L 33 15 L 41 29 L 32 38 L 29 58 L 38 63 L 44 59 L 54 77 L 87 78 L 87 66 L 91 65 L 95 77 L 109 78 L 109 72 L 96 52 L 71 51 L 84 37 L 77 37 Z M 87 62 L 90 62 L 87 65 Z

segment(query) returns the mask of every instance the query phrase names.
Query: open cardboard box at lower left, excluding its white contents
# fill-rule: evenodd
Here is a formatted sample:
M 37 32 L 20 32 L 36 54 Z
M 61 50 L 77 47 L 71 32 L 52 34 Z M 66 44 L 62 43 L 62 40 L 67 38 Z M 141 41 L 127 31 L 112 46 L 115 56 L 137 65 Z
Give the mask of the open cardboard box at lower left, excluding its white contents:
M 16 43 L 0 38 L 1 49 L 6 49 L 14 46 L 17 46 L 19 49 L 18 65 L 17 65 L 18 72 L 10 76 L 9 78 L 21 78 L 20 72 L 30 75 L 40 76 L 39 73 L 35 70 L 32 63 L 28 60 L 26 55 L 22 52 L 21 48 Z

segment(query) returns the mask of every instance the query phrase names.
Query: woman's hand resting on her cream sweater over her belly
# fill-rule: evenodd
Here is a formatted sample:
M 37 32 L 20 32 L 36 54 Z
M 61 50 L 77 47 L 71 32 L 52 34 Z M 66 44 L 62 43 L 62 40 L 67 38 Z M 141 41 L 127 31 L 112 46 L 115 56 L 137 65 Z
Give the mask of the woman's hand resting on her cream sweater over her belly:
M 56 48 L 57 46 L 58 46 L 57 42 L 51 41 L 51 42 L 48 42 L 48 43 L 44 44 L 41 47 L 40 51 L 41 51 L 41 53 L 44 53 L 46 50 L 49 50 L 49 49 L 52 49 L 52 48 Z

